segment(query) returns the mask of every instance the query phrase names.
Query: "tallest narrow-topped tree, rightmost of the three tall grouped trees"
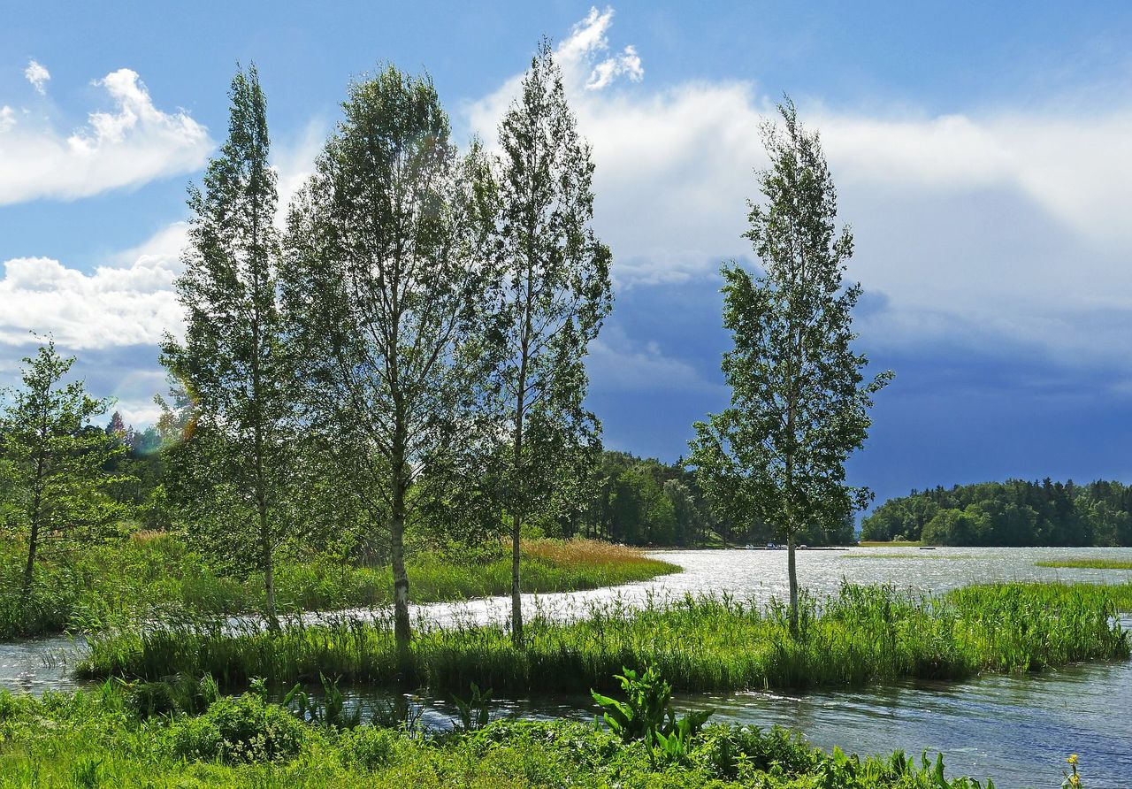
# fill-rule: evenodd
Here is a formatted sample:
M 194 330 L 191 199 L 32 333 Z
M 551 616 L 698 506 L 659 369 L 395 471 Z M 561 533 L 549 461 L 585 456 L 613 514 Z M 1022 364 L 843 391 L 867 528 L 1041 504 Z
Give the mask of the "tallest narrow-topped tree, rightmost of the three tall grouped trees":
M 593 163 L 543 40 L 499 130 L 498 240 L 504 266 L 499 380 L 511 438 L 512 637 L 523 638 L 520 535 L 551 515 L 556 478 L 588 455 L 600 426 L 583 408 L 583 359 L 612 305 L 609 248 L 593 234 Z

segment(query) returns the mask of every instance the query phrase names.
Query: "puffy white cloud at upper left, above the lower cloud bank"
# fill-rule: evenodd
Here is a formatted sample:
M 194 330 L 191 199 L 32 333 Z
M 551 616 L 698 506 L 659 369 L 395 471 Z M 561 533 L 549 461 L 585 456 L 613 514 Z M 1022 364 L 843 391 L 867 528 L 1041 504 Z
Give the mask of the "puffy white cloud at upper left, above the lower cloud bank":
M 0 146 L 0 205 L 74 199 L 199 169 L 208 132 L 183 111 L 158 110 L 135 71 L 96 80 L 114 104 L 63 136 L 51 126 L 9 128 Z

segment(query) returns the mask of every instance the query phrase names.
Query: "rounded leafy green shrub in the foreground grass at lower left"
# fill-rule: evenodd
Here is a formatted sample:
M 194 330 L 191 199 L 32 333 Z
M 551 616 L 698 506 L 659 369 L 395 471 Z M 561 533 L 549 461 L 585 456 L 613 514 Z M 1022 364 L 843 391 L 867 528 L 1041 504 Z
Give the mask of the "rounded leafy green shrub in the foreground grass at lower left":
M 174 755 L 203 762 L 285 761 L 299 753 L 305 736 L 286 710 L 252 693 L 221 698 L 170 730 Z

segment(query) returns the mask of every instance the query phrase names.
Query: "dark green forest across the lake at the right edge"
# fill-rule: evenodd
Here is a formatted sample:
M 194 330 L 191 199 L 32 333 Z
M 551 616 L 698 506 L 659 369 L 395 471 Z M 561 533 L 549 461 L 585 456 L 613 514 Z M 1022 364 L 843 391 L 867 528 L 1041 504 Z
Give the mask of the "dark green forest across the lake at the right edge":
M 941 546 L 1132 546 L 1132 486 L 1046 478 L 912 490 L 877 507 L 860 537 Z

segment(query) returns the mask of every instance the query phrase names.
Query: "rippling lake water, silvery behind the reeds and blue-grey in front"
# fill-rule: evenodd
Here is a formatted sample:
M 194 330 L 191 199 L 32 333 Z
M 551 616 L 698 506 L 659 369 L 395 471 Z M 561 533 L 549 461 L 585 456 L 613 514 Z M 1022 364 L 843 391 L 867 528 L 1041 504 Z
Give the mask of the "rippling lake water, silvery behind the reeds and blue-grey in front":
M 568 618 L 582 612 L 586 602 L 612 598 L 634 604 L 649 595 L 713 592 L 765 601 L 787 592 L 784 551 L 657 555 L 683 571 L 608 590 L 538 599 L 530 595 L 524 606 L 532 614 L 538 610 Z M 835 592 L 842 578 L 937 592 L 984 581 L 1132 581 L 1129 571 L 1058 569 L 1035 564 L 1064 558 L 1132 561 L 1132 549 L 812 550 L 799 551 L 798 575 L 801 585 L 815 594 Z M 492 598 L 422 606 L 417 612 L 434 620 L 482 621 L 506 618 L 508 606 L 506 599 Z M 318 615 L 305 618 L 317 619 Z M 1124 624 L 1132 626 L 1132 620 Z M 0 687 L 33 693 L 74 687 L 68 677 L 69 663 L 82 648 L 82 641 L 67 638 L 0 644 Z M 379 695 L 355 696 L 355 701 L 366 703 Z M 449 702 L 424 698 L 421 704 L 422 722 L 441 728 L 451 724 L 455 707 Z M 964 683 L 906 683 L 848 692 L 681 696 L 678 706 L 712 707 L 714 720 L 798 728 L 815 745 L 839 745 L 847 752 L 943 752 L 950 774 L 989 777 L 1003 789 L 1060 786 L 1064 758 L 1071 753 L 1080 755 L 1090 789 L 1132 787 L 1132 663 L 1072 666 L 1040 676 L 986 676 Z M 497 714 L 539 718 L 589 720 L 594 714 L 584 697 L 503 700 L 496 709 Z

